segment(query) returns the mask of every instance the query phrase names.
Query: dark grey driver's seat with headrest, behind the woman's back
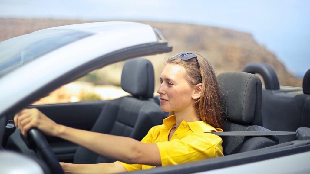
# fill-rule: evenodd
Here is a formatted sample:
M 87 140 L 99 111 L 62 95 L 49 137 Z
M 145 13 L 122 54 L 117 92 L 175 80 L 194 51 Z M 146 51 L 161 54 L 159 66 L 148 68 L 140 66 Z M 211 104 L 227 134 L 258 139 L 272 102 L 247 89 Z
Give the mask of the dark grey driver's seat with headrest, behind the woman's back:
M 224 72 L 218 82 L 224 118 L 224 131 L 269 131 L 261 124 L 262 84 L 258 76 L 245 72 Z M 279 144 L 276 136 L 222 136 L 224 155 Z

